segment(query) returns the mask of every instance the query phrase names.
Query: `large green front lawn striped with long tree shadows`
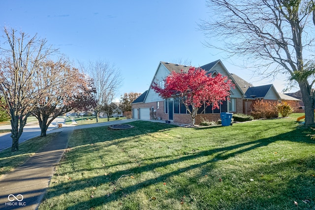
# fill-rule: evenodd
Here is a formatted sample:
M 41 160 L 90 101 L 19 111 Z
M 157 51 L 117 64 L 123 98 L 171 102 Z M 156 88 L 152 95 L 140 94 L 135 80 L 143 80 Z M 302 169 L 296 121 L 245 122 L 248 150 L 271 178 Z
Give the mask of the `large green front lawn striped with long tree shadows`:
M 39 210 L 315 209 L 315 132 L 295 120 L 75 130 Z

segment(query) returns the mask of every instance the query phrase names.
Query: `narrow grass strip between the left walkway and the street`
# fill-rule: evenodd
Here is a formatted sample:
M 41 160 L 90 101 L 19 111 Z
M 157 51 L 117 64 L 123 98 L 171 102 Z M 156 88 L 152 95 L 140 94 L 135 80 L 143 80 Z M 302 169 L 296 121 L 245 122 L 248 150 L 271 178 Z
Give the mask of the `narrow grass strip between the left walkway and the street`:
M 45 147 L 58 132 L 48 134 L 46 137 L 35 137 L 26 142 L 19 144 L 18 151 L 11 152 L 11 148 L 5 149 L 0 152 L 0 178 L 12 171 L 14 168 L 23 164 L 36 152 Z

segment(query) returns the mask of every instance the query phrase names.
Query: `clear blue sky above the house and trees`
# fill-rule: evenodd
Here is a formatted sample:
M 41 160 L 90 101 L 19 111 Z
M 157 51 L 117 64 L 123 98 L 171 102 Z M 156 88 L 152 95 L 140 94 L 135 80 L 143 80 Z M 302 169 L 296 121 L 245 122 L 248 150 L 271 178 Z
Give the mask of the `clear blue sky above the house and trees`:
M 0 28 L 38 34 L 76 64 L 115 63 L 124 77 L 117 97 L 149 88 L 159 61 L 200 66 L 221 59 L 254 86 L 271 82 L 206 48 L 197 23 L 211 15 L 205 0 L 1 0 Z M 78 67 L 78 65 L 77 65 Z M 278 91 L 284 81 L 272 82 Z

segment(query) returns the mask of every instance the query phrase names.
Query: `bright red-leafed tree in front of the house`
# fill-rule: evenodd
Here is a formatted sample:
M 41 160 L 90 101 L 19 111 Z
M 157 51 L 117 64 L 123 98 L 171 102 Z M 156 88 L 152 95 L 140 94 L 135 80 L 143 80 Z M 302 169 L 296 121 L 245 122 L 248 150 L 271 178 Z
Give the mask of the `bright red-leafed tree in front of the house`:
M 164 87 L 153 84 L 152 89 L 163 98 L 179 97 L 191 115 L 191 125 L 194 125 L 198 109 L 205 104 L 218 108 L 219 104 L 230 95 L 231 80 L 218 74 L 212 77 L 202 68 L 190 67 L 188 72 L 173 71 L 164 80 Z M 191 105 L 192 109 L 189 109 Z

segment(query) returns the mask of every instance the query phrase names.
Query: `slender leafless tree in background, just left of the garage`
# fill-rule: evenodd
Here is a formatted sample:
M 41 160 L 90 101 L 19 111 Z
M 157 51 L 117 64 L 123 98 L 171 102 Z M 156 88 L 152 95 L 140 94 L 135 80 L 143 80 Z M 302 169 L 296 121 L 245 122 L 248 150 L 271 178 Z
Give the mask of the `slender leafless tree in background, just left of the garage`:
M 96 122 L 98 122 L 99 113 L 106 104 L 111 104 L 115 93 L 122 85 L 123 79 L 120 70 L 108 61 L 90 61 L 87 67 L 84 64 L 81 64 L 81 67 L 93 80 L 95 88 L 95 106 L 93 108 Z

